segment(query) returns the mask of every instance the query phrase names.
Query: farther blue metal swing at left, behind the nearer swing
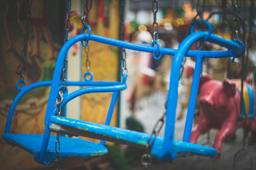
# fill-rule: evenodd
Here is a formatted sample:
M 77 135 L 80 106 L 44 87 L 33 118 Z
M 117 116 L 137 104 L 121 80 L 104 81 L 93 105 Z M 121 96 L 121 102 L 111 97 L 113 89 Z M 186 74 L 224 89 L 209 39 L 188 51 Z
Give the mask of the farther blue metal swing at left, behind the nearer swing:
M 56 64 L 57 66 L 58 64 Z M 13 146 L 19 146 L 26 152 L 31 153 L 35 156 L 35 160 L 42 164 L 49 164 L 55 160 L 55 141 L 56 136 L 47 136 L 48 138 L 45 140 L 42 134 L 12 134 L 10 133 L 10 128 L 12 125 L 12 117 L 15 111 L 15 107 L 19 103 L 20 99 L 24 94 L 29 92 L 32 89 L 42 86 L 52 86 L 54 87 L 54 81 L 39 81 L 36 83 L 32 83 L 31 85 L 24 86 L 20 89 L 19 94 L 13 100 L 12 106 L 10 107 L 10 111 L 8 113 L 8 118 L 6 121 L 6 129 L 2 136 L 2 141 L 4 143 L 8 143 Z M 126 84 L 122 82 L 115 81 L 67 81 L 67 86 L 88 86 L 83 87 L 83 91 L 85 93 L 89 92 L 113 92 L 113 96 L 111 98 L 111 103 L 109 106 L 108 117 L 106 118 L 106 125 L 109 125 L 113 114 L 113 110 L 115 108 L 115 103 L 118 97 L 118 92 L 120 90 L 126 89 Z M 71 95 L 72 96 L 72 95 Z M 68 95 L 69 97 L 69 95 Z M 68 99 L 67 97 L 67 99 Z M 49 110 L 49 106 L 55 103 L 53 99 L 49 99 L 47 106 L 47 114 L 45 115 L 45 134 L 50 134 L 51 131 L 48 129 L 49 118 L 47 115 L 51 115 L 54 113 L 54 105 L 51 110 Z M 61 150 L 60 157 L 93 157 L 99 155 L 105 155 L 108 153 L 108 149 L 100 145 L 98 143 L 93 143 L 92 141 L 85 141 L 83 139 L 77 138 L 67 138 L 65 136 L 60 136 L 61 141 Z M 40 152 L 41 147 L 45 147 L 45 153 Z M 43 155 L 43 156 L 42 156 Z M 38 160 L 39 156 L 42 156 L 43 159 Z

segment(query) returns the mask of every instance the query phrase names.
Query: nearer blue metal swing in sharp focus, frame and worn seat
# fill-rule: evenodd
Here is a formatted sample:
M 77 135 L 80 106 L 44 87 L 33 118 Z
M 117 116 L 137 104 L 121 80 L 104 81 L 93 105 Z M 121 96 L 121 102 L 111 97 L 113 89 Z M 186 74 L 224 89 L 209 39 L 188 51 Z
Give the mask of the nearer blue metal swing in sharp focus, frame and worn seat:
M 215 36 L 214 34 L 209 35 L 209 32 L 200 31 L 200 32 L 195 32 L 190 34 L 187 38 L 184 39 L 184 41 L 182 41 L 182 43 L 180 44 L 177 50 L 173 50 L 168 48 L 157 49 L 157 47 L 154 47 L 154 46 L 136 45 L 134 43 L 127 43 L 124 41 L 105 38 L 105 37 L 97 36 L 93 34 L 90 34 L 90 35 L 80 34 L 78 36 L 75 36 L 74 38 L 69 39 L 67 43 L 63 46 L 59 54 L 57 63 L 58 64 L 63 63 L 63 59 L 64 59 L 63 56 L 65 56 L 68 48 L 71 45 L 73 45 L 77 41 L 89 41 L 89 40 L 97 41 L 99 43 L 104 43 L 108 45 L 118 46 L 120 48 L 138 50 L 141 52 L 156 53 L 157 50 L 159 50 L 158 53 L 166 54 L 166 55 L 174 55 L 173 61 L 172 61 L 171 77 L 170 77 L 171 83 L 168 91 L 168 102 L 167 102 L 167 108 L 166 108 L 166 126 L 165 126 L 164 138 L 161 138 L 161 140 L 158 137 L 156 138 L 156 141 L 152 146 L 152 154 L 158 157 L 159 159 L 164 159 L 164 160 L 175 159 L 177 157 L 177 153 L 179 152 L 198 153 L 201 150 L 201 151 L 204 151 L 204 153 L 200 153 L 200 154 L 204 154 L 208 156 L 216 155 L 216 150 L 214 148 L 209 148 L 206 146 L 200 146 L 200 145 L 189 143 L 191 125 L 193 122 L 193 114 L 195 111 L 195 101 L 197 97 L 200 74 L 202 70 L 202 63 L 204 58 L 240 57 L 244 53 L 243 43 L 240 43 L 241 45 L 239 45 L 239 43 L 235 41 L 230 41 L 225 38 L 220 38 L 218 36 Z M 203 40 L 209 41 L 211 43 L 216 43 L 220 46 L 224 46 L 228 50 L 218 51 L 218 52 L 189 50 L 190 46 L 193 45 L 193 43 L 195 43 L 196 41 L 203 41 Z M 191 87 L 191 96 L 189 98 L 189 108 L 188 108 L 188 114 L 186 119 L 186 126 L 184 130 L 184 139 L 183 141 L 175 141 L 173 137 L 174 137 L 174 129 L 175 129 L 175 114 L 176 114 L 176 108 L 177 108 L 180 68 L 182 66 L 182 61 L 185 56 L 195 57 L 196 67 L 195 67 L 195 73 L 194 73 L 193 83 Z M 54 71 L 53 81 L 56 81 L 56 84 L 59 83 L 58 80 L 60 78 L 61 67 L 62 65 L 59 66 L 59 68 L 57 66 Z M 54 88 L 57 89 L 57 87 L 54 87 Z M 56 90 L 54 91 L 55 92 L 52 92 L 52 95 L 56 96 Z M 50 94 L 50 98 L 51 98 L 51 94 Z M 48 105 L 48 106 L 50 107 L 49 109 L 52 110 L 51 107 L 53 106 L 51 105 Z M 47 113 L 49 114 L 49 112 Z M 136 132 L 134 131 L 124 132 L 124 129 L 114 128 L 114 127 L 110 127 L 108 130 L 108 126 L 102 125 L 103 126 L 102 129 L 105 129 L 105 131 L 99 132 L 100 124 L 93 124 L 95 126 L 92 127 L 88 125 L 90 124 L 90 122 L 85 122 L 85 121 L 77 122 L 78 120 L 72 120 L 72 119 L 70 120 L 68 118 L 59 118 L 59 117 L 52 117 L 52 116 L 54 115 L 53 114 L 46 115 L 46 118 L 45 118 L 46 122 L 50 121 L 49 128 L 52 131 L 63 132 L 67 134 L 71 133 L 79 136 L 91 136 L 92 138 L 108 139 L 109 141 L 119 141 L 120 143 L 136 143 L 133 140 L 129 141 L 129 138 L 135 138 L 136 134 L 134 133 Z M 88 125 L 88 128 L 81 127 L 82 124 L 85 126 Z M 95 131 L 92 130 L 93 128 Z M 111 131 L 111 128 L 115 130 Z M 45 132 L 46 132 L 45 134 L 47 134 L 47 131 L 49 131 L 49 129 L 45 128 Z M 124 132 L 123 137 L 125 139 L 124 138 L 120 139 L 119 134 L 122 134 L 122 132 Z M 148 136 L 148 134 L 139 134 L 137 135 L 137 137 L 142 139 L 143 135 Z M 112 138 L 112 139 L 109 139 L 109 138 Z M 148 138 L 143 138 L 144 143 L 145 143 L 145 139 L 148 139 Z M 176 145 L 177 143 L 180 143 L 180 145 Z M 154 150 L 154 148 L 157 148 L 157 150 Z M 42 147 L 41 152 L 44 153 L 44 150 L 45 148 Z M 43 159 L 43 157 L 41 157 L 41 159 Z

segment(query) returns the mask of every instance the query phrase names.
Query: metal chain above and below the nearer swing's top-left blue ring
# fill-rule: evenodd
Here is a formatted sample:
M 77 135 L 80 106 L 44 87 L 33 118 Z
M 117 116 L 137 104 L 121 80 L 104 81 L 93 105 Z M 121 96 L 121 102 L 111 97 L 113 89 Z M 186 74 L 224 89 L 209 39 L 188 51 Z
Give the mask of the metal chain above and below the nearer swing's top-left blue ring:
M 84 3 L 83 16 L 81 17 L 82 23 L 84 25 L 84 30 L 88 30 L 86 25 L 90 25 L 88 16 L 89 16 L 89 12 L 90 12 L 91 9 L 92 9 L 92 0 L 90 0 L 90 3 L 88 3 L 88 0 L 86 0 L 85 3 Z M 90 52 L 89 44 L 86 47 L 84 47 L 84 51 L 86 53 L 85 66 L 86 66 L 86 69 L 87 69 L 87 73 L 90 73 L 91 61 L 90 61 L 90 58 L 89 58 L 89 52 Z

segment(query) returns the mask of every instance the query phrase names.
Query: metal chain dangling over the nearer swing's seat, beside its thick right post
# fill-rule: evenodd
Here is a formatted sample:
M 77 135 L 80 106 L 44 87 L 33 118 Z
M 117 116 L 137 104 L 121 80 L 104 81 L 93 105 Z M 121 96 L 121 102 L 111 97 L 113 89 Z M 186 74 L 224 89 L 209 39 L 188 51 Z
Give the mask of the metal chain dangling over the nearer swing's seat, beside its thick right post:
M 167 106 L 167 101 L 164 104 L 165 106 L 165 111 L 163 115 L 157 120 L 154 129 L 152 130 L 152 133 L 150 137 L 148 138 L 147 144 L 146 144 L 146 153 L 142 155 L 141 157 L 141 164 L 147 169 L 151 163 L 152 163 L 152 155 L 150 153 L 150 150 L 154 144 L 154 141 L 156 140 L 157 135 L 161 131 L 163 125 L 164 125 L 164 118 L 166 116 L 166 106 Z

